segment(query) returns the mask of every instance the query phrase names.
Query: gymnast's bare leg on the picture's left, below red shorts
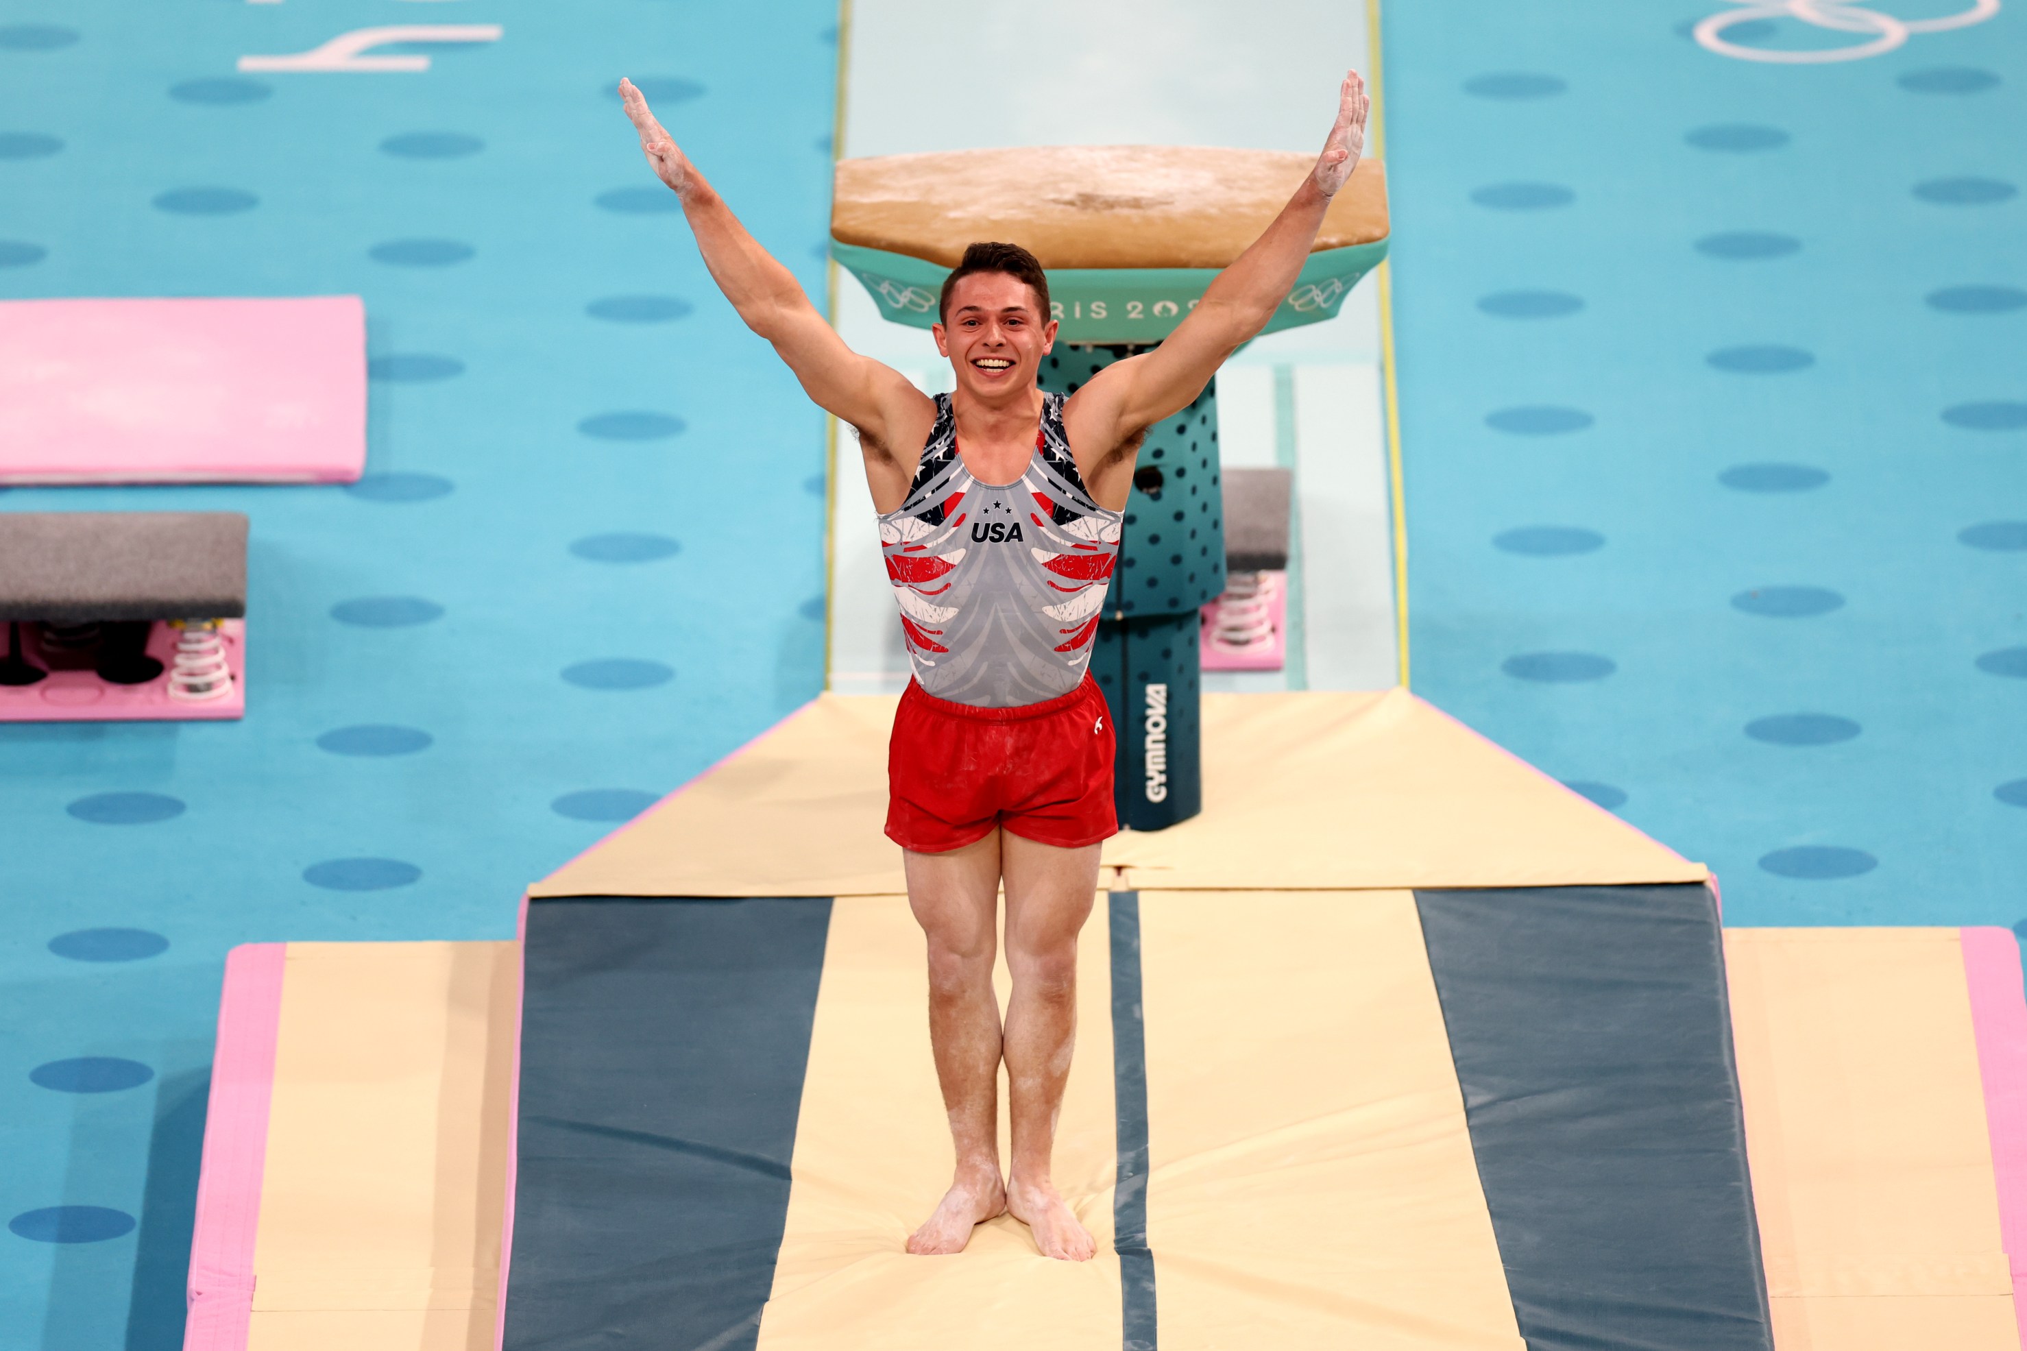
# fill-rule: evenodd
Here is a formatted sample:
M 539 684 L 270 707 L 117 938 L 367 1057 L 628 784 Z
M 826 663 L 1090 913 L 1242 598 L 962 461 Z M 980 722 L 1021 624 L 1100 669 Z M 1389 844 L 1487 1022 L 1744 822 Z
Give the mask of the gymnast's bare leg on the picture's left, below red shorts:
M 963 849 L 902 853 L 908 907 L 928 938 L 928 1043 L 957 1146 L 951 1191 L 908 1238 L 914 1254 L 963 1252 L 971 1227 L 1007 1207 L 999 1181 L 999 999 L 993 995 L 999 839 L 995 826 Z

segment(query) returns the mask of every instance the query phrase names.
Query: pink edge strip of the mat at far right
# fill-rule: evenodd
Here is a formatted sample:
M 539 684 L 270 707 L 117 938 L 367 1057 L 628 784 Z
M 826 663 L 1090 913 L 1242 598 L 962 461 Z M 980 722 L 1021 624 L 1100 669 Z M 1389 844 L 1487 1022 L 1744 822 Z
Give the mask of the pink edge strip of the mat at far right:
M 2013 1268 L 2013 1317 L 2027 1345 L 2027 997 L 2011 930 L 1966 928 L 1964 984 L 1984 1082 L 1984 1128 L 1999 1185 L 1999 1242 Z

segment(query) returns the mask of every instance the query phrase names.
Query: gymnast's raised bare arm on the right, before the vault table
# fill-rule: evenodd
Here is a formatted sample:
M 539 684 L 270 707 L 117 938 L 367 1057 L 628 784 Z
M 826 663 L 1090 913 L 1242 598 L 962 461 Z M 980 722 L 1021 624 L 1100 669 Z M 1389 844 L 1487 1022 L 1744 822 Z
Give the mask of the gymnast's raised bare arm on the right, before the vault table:
M 1113 363 L 1070 397 L 1064 409 L 1070 446 L 1093 452 L 1091 466 L 1078 454 L 1078 468 L 1101 502 L 1125 500 L 1125 488 L 1105 480 L 1131 476 L 1141 433 L 1186 409 L 1224 359 L 1259 334 L 1287 298 L 1324 227 L 1330 198 L 1358 168 L 1366 111 L 1366 85 L 1358 71 L 1348 71 L 1324 152 L 1267 233 L 1216 275 L 1161 346 Z

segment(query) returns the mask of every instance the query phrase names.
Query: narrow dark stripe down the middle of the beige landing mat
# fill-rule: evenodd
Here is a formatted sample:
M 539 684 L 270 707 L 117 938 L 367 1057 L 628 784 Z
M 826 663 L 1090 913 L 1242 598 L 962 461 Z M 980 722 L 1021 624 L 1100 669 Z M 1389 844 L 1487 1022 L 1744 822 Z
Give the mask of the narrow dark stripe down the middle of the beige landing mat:
M 1155 1351 L 1153 1254 L 1147 1250 L 1147 1037 L 1141 1019 L 1139 891 L 1111 893 L 1113 1100 L 1119 1112 L 1119 1254 L 1125 1351 Z

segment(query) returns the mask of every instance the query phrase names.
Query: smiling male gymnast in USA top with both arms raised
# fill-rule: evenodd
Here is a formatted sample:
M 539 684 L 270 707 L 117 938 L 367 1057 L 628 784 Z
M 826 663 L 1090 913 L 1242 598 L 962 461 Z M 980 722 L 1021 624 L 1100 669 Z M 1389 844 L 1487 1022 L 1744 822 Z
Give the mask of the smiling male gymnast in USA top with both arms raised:
M 1050 1179 L 1050 1153 L 1076 1039 L 1076 936 L 1097 895 L 1099 843 L 1119 828 L 1113 731 L 1088 664 L 1133 458 L 1295 286 L 1364 148 L 1364 83 L 1344 77 L 1316 168 L 1176 332 L 1068 397 L 1036 385 L 1056 322 L 1032 253 L 965 249 L 932 328 L 957 391 L 930 399 L 845 346 L 632 81 L 620 97 L 726 300 L 817 405 L 857 429 L 880 510 L 914 668 L 888 747 L 886 832 L 928 938 L 928 1039 L 957 1146 L 951 1189 L 908 1252 L 961 1252 L 973 1225 L 1011 1211 L 1046 1256 L 1084 1262 L 1095 1244 Z M 1014 978 L 1003 1023 L 1001 885 Z M 1001 1061 L 1014 1142 L 1003 1179 Z

